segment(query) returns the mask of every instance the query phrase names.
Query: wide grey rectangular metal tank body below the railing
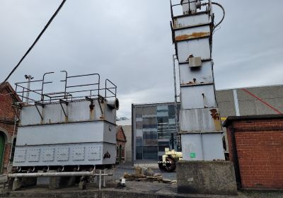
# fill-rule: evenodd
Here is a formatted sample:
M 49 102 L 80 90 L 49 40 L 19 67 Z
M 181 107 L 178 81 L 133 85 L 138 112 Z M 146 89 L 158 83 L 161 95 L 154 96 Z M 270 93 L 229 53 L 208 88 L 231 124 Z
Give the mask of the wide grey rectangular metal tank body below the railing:
M 23 106 L 13 166 L 105 165 L 116 159 L 116 110 L 94 99 Z M 105 157 L 105 153 L 107 156 Z

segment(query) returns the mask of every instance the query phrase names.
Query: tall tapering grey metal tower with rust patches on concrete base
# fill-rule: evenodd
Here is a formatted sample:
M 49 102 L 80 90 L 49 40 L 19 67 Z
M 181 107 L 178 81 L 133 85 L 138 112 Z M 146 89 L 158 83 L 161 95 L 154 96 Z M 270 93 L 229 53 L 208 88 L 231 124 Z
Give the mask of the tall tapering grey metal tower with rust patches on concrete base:
M 171 3 L 173 43 L 180 73 L 180 135 L 185 161 L 224 160 L 212 61 L 212 35 L 219 24 L 214 25 L 212 4 L 216 3 L 210 0 Z M 175 6 L 182 6 L 182 15 L 174 16 Z

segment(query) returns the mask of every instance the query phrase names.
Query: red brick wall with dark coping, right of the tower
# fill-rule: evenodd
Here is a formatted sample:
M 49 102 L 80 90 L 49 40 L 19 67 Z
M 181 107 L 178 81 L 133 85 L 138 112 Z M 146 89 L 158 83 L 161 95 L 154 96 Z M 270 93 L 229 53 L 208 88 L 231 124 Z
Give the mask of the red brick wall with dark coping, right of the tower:
M 283 119 L 234 121 L 227 136 L 243 188 L 283 189 Z

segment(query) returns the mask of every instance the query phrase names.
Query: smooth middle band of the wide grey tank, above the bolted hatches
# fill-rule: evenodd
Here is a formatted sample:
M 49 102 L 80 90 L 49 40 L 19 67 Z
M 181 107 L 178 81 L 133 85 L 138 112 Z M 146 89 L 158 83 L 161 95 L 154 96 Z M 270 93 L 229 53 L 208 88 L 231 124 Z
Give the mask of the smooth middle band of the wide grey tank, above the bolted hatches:
M 18 127 L 16 145 L 70 144 L 100 141 L 116 144 L 116 127 L 114 124 L 101 121 Z

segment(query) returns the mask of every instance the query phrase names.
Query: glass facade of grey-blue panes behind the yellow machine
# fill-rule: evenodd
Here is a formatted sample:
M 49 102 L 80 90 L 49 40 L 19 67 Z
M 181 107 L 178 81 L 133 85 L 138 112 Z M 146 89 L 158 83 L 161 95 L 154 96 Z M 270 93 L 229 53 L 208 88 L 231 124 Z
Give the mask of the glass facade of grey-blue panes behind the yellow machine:
M 178 150 L 174 103 L 134 105 L 133 113 L 135 161 L 158 161 L 165 148 Z

